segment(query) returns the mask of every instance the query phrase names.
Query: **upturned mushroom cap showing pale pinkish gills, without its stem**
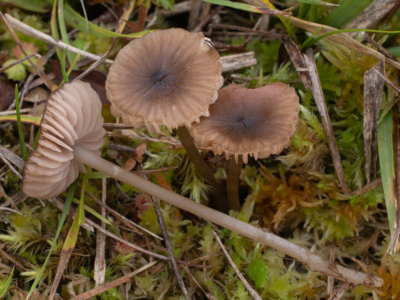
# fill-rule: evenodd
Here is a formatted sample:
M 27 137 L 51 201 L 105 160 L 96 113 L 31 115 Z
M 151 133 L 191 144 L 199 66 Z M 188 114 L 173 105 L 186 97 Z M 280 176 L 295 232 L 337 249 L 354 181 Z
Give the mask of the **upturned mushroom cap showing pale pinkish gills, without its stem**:
M 75 142 L 97 155 L 103 144 L 101 102 L 89 83 L 64 83 L 47 98 L 40 122 L 36 149 L 22 173 L 22 190 L 33 198 L 50 199 L 63 192 L 86 172 L 83 163 L 72 160 Z

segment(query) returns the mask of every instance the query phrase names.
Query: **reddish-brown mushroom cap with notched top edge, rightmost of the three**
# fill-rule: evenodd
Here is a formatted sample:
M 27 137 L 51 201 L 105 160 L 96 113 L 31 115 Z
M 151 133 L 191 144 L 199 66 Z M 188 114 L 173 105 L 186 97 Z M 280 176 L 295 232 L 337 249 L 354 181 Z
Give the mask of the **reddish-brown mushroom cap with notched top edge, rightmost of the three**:
M 191 135 L 195 143 L 212 146 L 214 154 L 225 152 L 265 158 L 289 146 L 289 137 L 298 122 L 298 96 L 293 87 L 281 82 L 247 89 L 231 84 L 221 88 L 218 100 L 209 106 L 209 117 L 193 123 Z

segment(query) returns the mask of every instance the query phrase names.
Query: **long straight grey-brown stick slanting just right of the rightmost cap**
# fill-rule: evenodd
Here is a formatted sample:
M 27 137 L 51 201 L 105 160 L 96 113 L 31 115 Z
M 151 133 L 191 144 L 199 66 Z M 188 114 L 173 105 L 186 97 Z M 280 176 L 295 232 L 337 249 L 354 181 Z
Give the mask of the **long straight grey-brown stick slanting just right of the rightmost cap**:
M 304 54 L 305 63 L 308 66 L 308 73 L 311 77 L 312 82 L 312 95 L 315 99 L 316 106 L 318 107 L 319 113 L 322 119 L 322 125 L 326 132 L 326 138 L 328 141 L 330 153 L 333 159 L 334 169 L 336 171 L 337 180 L 339 181 L 341 191 L 344 194 L 351 194 L 351 190 L 347 187 L 346 179 L 344 178 L 343 167 L 341 165 L 339 151 L 337 150 L 336 140 L 334 138 L 332 125 L 330 123 L 330 118 L 328 110 L 325 103 L 325 98 L 323 97 L 323 92 L 321 88 L 321 83 L 319 81 L 318 72 L 316 70 L 316 64 L 314 60 L 314 55 L 312 50 L 308 49 L 306 54 Z

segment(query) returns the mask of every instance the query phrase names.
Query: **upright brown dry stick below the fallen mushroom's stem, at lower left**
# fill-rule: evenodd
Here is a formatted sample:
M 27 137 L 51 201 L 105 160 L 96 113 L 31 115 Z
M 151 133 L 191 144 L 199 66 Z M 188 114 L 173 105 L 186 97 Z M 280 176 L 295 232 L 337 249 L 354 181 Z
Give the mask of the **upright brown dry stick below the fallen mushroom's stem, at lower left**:
M 101 203 L 105 205 L 105 198 L 107 194 L 106 190 L 106 178 L 101 179 Z M 105 207 L 101 206 L 101 216 L 105 217 Z M 105 222 L 101 221 L 101 228 L 105 229 Z M 105 279 L 105 234 L 101 231 L 96 232 L 96 258 L 94 259 L 94 282 L 95 286 L 99 286 L 104 283 Z

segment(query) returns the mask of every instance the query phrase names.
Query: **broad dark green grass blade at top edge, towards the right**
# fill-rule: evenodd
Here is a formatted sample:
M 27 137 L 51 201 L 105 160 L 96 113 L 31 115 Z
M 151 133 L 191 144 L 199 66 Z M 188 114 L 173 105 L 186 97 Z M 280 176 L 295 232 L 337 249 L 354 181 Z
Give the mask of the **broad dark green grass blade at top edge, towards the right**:
M 322 24 L 341 28 L 360 14 L 373 0 L 340 0 L 322 20 Z

